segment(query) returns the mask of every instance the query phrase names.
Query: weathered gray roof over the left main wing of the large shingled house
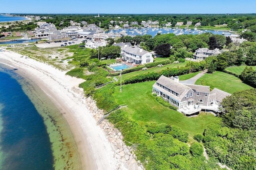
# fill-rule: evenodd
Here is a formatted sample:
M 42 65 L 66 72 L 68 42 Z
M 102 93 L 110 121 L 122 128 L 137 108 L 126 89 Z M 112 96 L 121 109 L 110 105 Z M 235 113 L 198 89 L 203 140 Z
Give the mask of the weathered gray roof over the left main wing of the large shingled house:
M 170 90 L 178 93 L 179 97 L 164 90 L 163 88 L 160 88 L 159 86 L 156 85 L 156 83 L 159 83 L 159 84 L 165 86 L 166 88 L 169 88 Z M 189 90 L 191 90 L 188 86 L 185 86 L 179 82 L 175 82 L 174 80 L 172 80 L 166 76 L 163 76 L 163 75 L 160 78 L 158 78 L 156 83 L 153 85 L 154 88 L 159 89 L 160 91 L 164 92 L 168 96 L 171 96 L 172 98 L 174 98 L 178 101 L 180 101 L 189 92 Z

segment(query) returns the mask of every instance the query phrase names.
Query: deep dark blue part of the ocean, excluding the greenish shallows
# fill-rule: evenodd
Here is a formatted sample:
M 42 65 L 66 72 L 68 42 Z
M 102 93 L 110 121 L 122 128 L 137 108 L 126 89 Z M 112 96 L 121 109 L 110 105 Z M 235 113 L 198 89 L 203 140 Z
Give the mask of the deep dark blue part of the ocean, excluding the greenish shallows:
M 0 169 L 54 169 L 43 119 L 8 71 L 0 70 Z

